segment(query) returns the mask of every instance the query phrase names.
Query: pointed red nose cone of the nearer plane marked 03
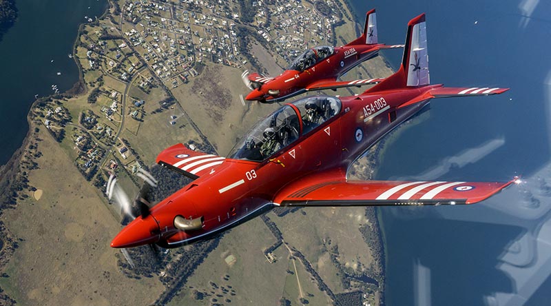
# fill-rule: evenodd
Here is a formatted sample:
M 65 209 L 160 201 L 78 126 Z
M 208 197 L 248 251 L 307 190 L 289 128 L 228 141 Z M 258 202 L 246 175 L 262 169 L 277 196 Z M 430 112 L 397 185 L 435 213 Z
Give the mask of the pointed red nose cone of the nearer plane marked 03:
M 111 247 L 137 247 L 159 241 L 160 230 L 157 221 L 149 215 L 138 217 L 116 235 Z

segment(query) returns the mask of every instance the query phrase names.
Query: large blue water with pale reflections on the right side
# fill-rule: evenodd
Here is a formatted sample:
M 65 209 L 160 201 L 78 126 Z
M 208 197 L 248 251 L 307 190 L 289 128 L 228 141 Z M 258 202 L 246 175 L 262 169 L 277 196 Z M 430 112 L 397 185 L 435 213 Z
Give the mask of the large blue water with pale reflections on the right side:
M 506 181 L 522 174 L 528 182 L 474 206 L 380 209 L 386 305 L 548 305 L 551 271 L 543 269 L 549 261 L 538 241 L 551 241 L 551 201 L 541 191 L 551 181 L 551 3 L 353 5 L 361 23 L 366 10 L 377 9 L 380 42 L 389 44 L 402 43 L 407 21 L 426 12 L 432 83 L 512 88 L 433 100 L 428 116 L 388 143 L 375 179 Z M 384 54 L 397 67 L 402 52 Z M 530 182 L 540 187 L 526 191 Z M 542 194 L 547 201 L 530 200 Z

